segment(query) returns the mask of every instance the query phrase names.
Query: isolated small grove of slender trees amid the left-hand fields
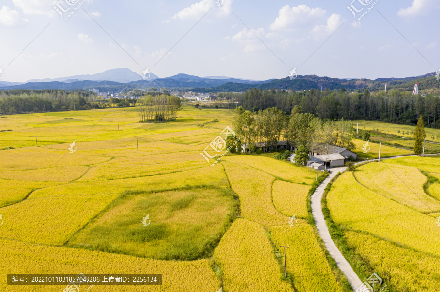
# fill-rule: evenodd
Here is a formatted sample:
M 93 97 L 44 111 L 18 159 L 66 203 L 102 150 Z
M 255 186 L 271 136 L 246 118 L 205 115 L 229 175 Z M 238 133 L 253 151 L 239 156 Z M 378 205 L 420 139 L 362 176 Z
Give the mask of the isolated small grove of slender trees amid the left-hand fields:
M 161 94 L 141 97 L 136 108 L 143 122 L 168 122 L 176 119 L 182 107 L 179 97 Z

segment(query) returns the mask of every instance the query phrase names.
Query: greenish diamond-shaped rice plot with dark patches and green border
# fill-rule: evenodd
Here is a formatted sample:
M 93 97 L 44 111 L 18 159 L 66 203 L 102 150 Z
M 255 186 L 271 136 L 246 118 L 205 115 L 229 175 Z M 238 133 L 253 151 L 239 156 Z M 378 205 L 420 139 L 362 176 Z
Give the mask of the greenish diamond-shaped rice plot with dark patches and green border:
M 226 189 L 130 195 L 75 234 L 69 245 L 164 260 L 198 259 L 220 240 L 234 218 L 234 203 Z

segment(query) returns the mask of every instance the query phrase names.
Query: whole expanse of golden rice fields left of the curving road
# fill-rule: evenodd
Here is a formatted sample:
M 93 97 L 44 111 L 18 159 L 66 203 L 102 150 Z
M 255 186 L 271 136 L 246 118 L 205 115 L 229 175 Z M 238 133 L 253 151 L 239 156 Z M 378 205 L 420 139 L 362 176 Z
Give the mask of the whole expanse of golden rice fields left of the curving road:
M 134 108 L 113 108 L 1 118 L 0 130 L 13 131 L 0 132 L 0 277 L 163 274 L 163 285 L 96 292 L 349 291 L 303 220 L 316 173 L 264 156 L 211 166 L 200 153 L 233 113 L 184 106 L 179 116 L 143 124 Z M 287 279 L 280 245 L 290 245 Z M 64 288 L 0 283 L 2 292 Z

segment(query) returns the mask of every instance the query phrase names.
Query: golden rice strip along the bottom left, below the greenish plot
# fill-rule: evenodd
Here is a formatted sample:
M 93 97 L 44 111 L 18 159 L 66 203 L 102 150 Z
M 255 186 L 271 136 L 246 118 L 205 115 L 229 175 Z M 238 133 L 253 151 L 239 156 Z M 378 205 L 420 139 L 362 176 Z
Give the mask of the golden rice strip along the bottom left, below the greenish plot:
M 0 239 L 0 276 L 8 273 L 157 273 L 162 285 L 94 286 L 91 291 L 106 292 L 195 292 L 218 291 L 219 280 L 208 260 L 161 261 L 141 257 Z M 20 261 L 20 265 L 17 263 Z M 178 280 L 175 280 L 178 279 Z M 60 292 L 64 285 L 12 286 L 0 283 L 2 292 Z M 83 290 L 81 290 L 83 291 Z

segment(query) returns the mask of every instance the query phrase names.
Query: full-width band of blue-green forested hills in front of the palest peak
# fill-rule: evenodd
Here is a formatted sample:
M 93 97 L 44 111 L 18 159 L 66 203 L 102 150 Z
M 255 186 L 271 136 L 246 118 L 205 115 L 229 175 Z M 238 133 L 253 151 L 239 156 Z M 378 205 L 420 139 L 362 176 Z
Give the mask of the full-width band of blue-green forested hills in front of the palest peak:
M 161 88 L 165 87 L 169 90 L 193 90 L 195 92 L 237 92 L 244 91 L 249 88 L 257 89 L 284 89 L 284 90 L 310 90 L 319 89 L 330 91 L 339 90 L 344 87 L 349 91 L 379 91 L 388 85 L 388 89 L 396 89 L 400 91 L 412 91 L 414 84 L 418 82 L 419 90 L 424 89 L 438 89 L 440 81 L 435 77 L 436 73 L 428 73 L 416 77 L 407 78 L 378 78 L 376 80 L 370 79 L 337 79 L 330 77 L 320 77 L 317 75 L 299 75 L 294 80 L 289 77 L 283 79 L 271 79 L 267 81 L 250 81 L 238 79 L 189 79 L 189 78 L 160 78 L 155 80 L 139 80 L 132 81 L 127 84 L 114 81 L 75 81 L 75 82 L 28 82 L 26 84 L 6 86 L 0 85 L 0 90 L 12 89 L 31 89 L 31 90 L 89 90 L 92 88 L 99 89 L 102 92 L 106 91 L 128 91 L 133 89 L 147 90 L 151 87 Z

